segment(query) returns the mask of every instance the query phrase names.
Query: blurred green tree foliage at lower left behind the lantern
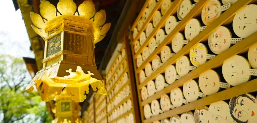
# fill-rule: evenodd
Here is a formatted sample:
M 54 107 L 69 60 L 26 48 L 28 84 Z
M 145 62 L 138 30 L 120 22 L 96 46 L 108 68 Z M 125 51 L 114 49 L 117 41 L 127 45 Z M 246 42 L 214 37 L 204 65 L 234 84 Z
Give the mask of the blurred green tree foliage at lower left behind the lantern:
M 22 59 L 0 55 L 0 123 L 51 123 L 39 93 L 25 92 L 30 81 Z

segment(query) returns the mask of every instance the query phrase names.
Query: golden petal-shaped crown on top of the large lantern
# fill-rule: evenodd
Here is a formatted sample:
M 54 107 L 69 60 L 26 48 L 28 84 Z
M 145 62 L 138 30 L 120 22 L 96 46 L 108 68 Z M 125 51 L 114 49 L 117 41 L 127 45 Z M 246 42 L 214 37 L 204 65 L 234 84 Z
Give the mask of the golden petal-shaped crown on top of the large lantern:
M 105 10 L 100 10 L 95 13 L 95 6 L 92 0 L 85 0 L 79 5 L 78 11 L 76 3 L 73 0 L 60 0 L 57 4 L 57 9 L 47 0 L 42 0 L 40 4 L 40 16 L 37 13 L 31 12 L 31 20 L 34 25 L 32 28 L 43 39 L 47 38 L 47 28 L 58 23 L 60 19 L 72 19 L 80 23 L 90 24 L 94 44 L 101 41 L 107 31 L 111 27 L 111 23 L 105 23 Z

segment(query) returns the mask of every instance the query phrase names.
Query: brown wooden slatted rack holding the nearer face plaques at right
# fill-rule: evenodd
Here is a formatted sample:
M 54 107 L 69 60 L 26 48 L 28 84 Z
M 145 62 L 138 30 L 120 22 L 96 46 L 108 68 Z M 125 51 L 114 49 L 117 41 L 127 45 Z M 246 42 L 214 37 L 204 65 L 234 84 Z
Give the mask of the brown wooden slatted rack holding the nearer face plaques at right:
M 222 92 L 215 93 L 213 95 L 207 96 L 205 98 L 199 99 L 197 101 L 188 103 L 186 105 L 183 105 L 181 107 L 172 109 L 170 111 L 167 111 L 163 114 L 160 114 L 158 116 L 149 118 L 145 120 L 144 113 L 143 113 L 143 106 L 146 104 L 149 104 L 152 102 L 152 100 L 159 99 L 163 94 L 170 93 L 171 89 L 174 89 L 176 87 L 181 87 L 183 84 L 190 80 L 198 78 L 199 75 L 209 69 L 216 68 L 222 63 L 231 58 L 232 56 L 235 56 L 237 54 L 243 53 L 249 49 L 249 47 L 256 43 L 256 37 L 257 32 L 253 33 L 249 37 L 243 39 L 239 43 L 235 44 L 234 46 L 230 47 L 228 50 L 222 52 L 221 54 L 215 56 L 212 60 L 202 64 L 201 66 L 197 67 L 195 70 L 189 72 L 185 76 L 181 77 L 180 79 L 176 80 L 174 83 L 169 85 L 168 87 L 164 88 L 162 91 L 159 91 L 155 93 L 154 95 L 148 97 L 144 101 L 141 99 L 141 89 L 148 84 L 149 81 L 155 80 L 155 78 L 159 75 L 165 72 L 166 68 L 169 67 L 170 64 L 175 64 L 176 61 L 182 57 L 183 55 L 188 55 L 189 51 L 192 47 L 194 47 L 199 42 L 206 42 L 209 35 L 217 29 L 219 26 L 230 24 L 233 20 L 234 15 L 242 8 L 243 6 L 246 6 L 247 4 L 254 2 L 256 0 L 238 0 L 236 3 L 234 3 L 229 9 L 227 9 L 225 12 L 223 12 L 211 25 L 209 25 L 204 31 L 200 32 L 193 40 L 191 40 L 188 44 L 186 44 L 179 52 L 177 52 L 173 57 L 171 57 L 167 62 L 165 62 L 161 67 L 159 67 L 156 71 L 154 71 L 143 83 L 139 83 L 139 72 L 145 68 L 146 64 L 151 62 L 155 55 L 160 54 L 161 50 L 164 48 L 164 46 L 171 44 L 171 39 L 175 36 L 176 33 L 183 31 L 185 28 L 185 25 L 190 21 L 190 19 L 197 17 L 201 11 L 202 7 L 207 3 L 208 0 L 200 0 L 197 5 L 191 9 L 191 11 L 184 17 L 184 19 L 171 31 L 171 33 L 164 39 L 162 43 L 159 44 L 159 46 L 155 49 L 155 51 L 149 55 L 149 57 L 139 66 L 136 66 L 136 59 L 137 57 L 142 53 L 143 49 L 148 46 L 149 42 L 151 41 L 151 38 L 154 37 L 159 29 L 161 29 L 168 18 L 171 15 L 174 15 L 177 11 L 178 5 L 181 3 L 182 0 L 175 0 L 174 3 L 171 5 L 170 9 L 166 13 L 165 16 L 163 16 L 162 20 L 159 22 L 157 27 L 154 28 L 154 30 L 151 32 L 151 34 L 147 37 L 147 39 L 144 41 L 142 46 L 140 46 L 139 50 L 135 53 L 134 52 L 134 44 L 138 40 L 139 35 L 142 31 L 145 30 L 146 25 L 152 20 L 152 16 L 160 6 L 163 0 L 159 0 L 155 6 L 155 9 L 151 12 L 151 15 L 148 17 L 147 21 L 145 22 L 144 26 L 140 31 L 138 31 L 137 36 L 133 39 L 132 32 L 130 33 L 130 39 L 131 42 L 131 49 L 132 49 L 132 56 L 133 56 L 133 62 L 134 62 L 134 71 L 135 71 L 135 78 L 136 78 L 136 84 L 137 84 L 137 92 L 138 92 L 138 100 L 139 100 L 139 107 L 140 107 L 140 113 L 141 113 L 141 120 L 143 123 L 151 123 L 153 121 L 162 120 L 174 115 L 181 114 L 186 111 L 194 110 L 199 107 L 203 107 L 205 105 L 209 105 L 213 102 L 219 101 L 219 100 L 225 100 L 229 99 L 233 96 L 247 93 L 247 92 L 255 92 L 257 91 L 256 82 L 257 79 L 252 80 L 250 82 L 244 83 L 242 85 L 227 89 Z M 145 4 L 148 4 L 147 2 Z M 146 5 L 144 5 L 146 7 Z M 142 8 L 141 12 L 143 12 L 145 8 Z M 142 13 L 139 13 L 141 16 Z M 139 17 L 140 18 L 140 17 Z M 139 19 L 135 21 L 133 24 L 132 29 L 135 28 L 135 25 L 137 24 Z M 234 92 L 234 93 L 233 93 Z

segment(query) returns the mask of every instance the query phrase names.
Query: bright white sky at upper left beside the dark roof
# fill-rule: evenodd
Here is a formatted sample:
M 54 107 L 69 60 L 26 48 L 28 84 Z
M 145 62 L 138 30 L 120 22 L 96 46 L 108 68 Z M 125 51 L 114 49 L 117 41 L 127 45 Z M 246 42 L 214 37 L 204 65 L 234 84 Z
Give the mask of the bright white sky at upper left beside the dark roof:
M 12 0 L 0 1 L 0 55 L 35 58 L 20 9 Z

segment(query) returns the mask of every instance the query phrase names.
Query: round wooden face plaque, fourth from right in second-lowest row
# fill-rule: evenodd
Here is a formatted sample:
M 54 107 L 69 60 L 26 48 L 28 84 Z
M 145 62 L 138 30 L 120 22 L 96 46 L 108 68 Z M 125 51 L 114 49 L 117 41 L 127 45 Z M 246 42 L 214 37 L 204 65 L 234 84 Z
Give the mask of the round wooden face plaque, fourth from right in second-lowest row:
M 189 102 L 198 99 L 199 87 L 195 80 L 189 80 L 183 85 L 183 94 Z

